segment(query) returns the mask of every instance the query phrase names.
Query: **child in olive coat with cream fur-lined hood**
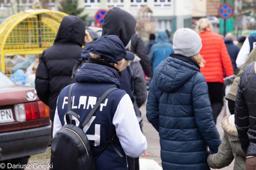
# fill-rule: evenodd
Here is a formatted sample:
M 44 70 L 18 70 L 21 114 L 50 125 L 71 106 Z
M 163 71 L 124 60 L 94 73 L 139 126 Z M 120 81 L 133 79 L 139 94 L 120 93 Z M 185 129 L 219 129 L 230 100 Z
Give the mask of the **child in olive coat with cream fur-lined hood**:
M 221 122 L 224 134 L 218 153 L 210 154 L 207 163 L 210 168 L 220 169 L 228 166 L 235 159 L 234 170 L 245 170 L 245 153 L 241 148 L 237 129 L 235 125 L 235 116 L 225 116 Z

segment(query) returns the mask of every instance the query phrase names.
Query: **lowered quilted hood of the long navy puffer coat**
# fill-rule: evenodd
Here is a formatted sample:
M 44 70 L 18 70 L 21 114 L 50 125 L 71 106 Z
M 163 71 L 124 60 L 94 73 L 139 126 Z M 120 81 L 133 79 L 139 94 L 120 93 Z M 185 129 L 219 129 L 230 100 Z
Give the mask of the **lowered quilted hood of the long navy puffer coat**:
M 187 80 L 199 72 L 197 66 L 174 58 L 177 55 L 182 56 L 181 54 L 171 54 L 170 57 L 165 59 L 156 68 L 154 78 L 157 79 L 157 87 L 167 93 L 177 90 L 187 82 Z M 190 59 L 188 57 L 186 58 Z

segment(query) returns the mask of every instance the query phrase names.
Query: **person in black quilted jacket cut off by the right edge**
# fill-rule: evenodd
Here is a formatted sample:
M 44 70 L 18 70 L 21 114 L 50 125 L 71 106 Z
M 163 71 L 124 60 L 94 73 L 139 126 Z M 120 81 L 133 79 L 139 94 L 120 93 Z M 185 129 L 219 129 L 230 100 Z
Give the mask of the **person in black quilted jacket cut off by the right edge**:
M 245 67 L 237 87 L 235 124 L 243 151 L 246 169 L 256 164 L 256 62 Z

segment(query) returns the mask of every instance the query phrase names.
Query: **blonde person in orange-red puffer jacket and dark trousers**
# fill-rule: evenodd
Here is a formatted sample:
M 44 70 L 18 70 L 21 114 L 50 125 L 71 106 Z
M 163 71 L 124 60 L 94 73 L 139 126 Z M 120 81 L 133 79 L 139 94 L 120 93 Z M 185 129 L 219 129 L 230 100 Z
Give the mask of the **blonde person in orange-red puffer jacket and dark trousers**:
M 211 31 L 212 24 L 206 18 L 198 21 L 199 36 L 202 39 L 200 54 L 206 61 L 201 73 L 204 75 L 207 85 L 210 102 L 212 105 L 212 116 L 216 124 L 217 117 L 223 107 L 223 78 L 234 74 L 232 62 L 224 40 L 220 34 Z

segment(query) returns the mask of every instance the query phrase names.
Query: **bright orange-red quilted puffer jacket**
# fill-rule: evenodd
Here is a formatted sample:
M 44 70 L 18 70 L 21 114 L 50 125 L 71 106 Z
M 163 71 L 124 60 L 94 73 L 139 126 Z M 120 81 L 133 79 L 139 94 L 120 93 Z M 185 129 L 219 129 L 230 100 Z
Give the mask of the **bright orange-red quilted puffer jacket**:
M 203 44 L 200 54 L 206 61 L 201 72 L 206 82 L 224 83 L 223 68 L 227 77 L 232 76 L 234 71 L 222 36 L 209 30 L 200 32 L 199 36 Z

